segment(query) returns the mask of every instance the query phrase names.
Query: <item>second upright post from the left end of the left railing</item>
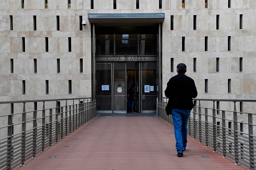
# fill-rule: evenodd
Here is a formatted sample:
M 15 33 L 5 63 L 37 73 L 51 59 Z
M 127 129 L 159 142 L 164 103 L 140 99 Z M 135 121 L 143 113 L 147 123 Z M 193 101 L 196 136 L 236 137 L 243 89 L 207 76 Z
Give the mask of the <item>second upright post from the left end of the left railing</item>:
M 19 166 L 26 166 L 26 109 L 25 103 L 23 103 L 23 112 L 22 112 L 22 140 L 21 140 L 21 164 Z

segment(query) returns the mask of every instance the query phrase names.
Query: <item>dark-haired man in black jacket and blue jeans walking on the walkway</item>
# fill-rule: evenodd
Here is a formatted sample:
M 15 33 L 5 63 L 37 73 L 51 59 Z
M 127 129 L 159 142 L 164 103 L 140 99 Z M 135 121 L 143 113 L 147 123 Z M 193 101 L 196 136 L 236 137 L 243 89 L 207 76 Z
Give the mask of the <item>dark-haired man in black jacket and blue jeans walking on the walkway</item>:
M 195 82 L 185 75 L 186 72 L 187 66 L 183 63 L 178 64 L 178 74 L 169 80 L 165 89 L 165 96 L 169 98 L 165 109 L 167 115 L 172 114 L 178 157 L 182 157 L 186 150 L 187 121 L 194 107 L 192 98 L 197 97 Z

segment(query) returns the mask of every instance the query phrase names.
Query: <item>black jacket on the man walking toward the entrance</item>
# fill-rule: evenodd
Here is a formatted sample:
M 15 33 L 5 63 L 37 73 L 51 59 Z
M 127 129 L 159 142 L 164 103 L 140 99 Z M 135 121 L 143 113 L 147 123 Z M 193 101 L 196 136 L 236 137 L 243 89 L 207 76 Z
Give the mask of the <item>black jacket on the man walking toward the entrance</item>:
M 165 108 L 167 115 L 172 114 L 172 109 L 193 109 L 192 98 L 197 97 L 197 88 L 194 80 L 185 74 L 173 76 L 167 83 L 165 96 L 169 98 Z

